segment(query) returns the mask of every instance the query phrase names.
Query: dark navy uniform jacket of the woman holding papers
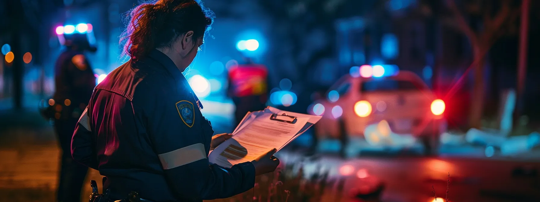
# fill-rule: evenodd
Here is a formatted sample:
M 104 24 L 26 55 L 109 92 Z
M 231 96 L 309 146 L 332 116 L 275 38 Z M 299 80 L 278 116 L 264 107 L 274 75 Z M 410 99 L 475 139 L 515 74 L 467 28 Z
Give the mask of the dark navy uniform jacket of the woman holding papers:
M 106 177 L 114 200 L 227 198 L 251 189 L 251 162 L 208 162 L 212 126 L 184 75 L 164 53 L 126 62 L 95 88 L 71 143 L 73 158 Z

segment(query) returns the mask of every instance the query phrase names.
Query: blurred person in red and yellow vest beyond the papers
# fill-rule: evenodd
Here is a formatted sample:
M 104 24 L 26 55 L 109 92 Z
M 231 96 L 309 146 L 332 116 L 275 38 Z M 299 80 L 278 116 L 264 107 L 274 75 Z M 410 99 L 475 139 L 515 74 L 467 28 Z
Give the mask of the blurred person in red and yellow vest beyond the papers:
M 232 67 L 228 71 L 227 95 L 236 106 L 234 126 L 237 126 L 248 112 L 266 108 L 268 100 L 268 69 L 255 64 L 251 58 L 244 58 L 245 64 Z

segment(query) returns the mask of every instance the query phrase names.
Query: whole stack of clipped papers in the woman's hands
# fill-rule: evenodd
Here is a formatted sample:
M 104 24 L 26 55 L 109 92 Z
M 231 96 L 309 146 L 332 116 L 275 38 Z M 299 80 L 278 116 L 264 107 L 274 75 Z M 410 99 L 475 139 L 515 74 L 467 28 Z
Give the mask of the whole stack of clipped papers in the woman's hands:
M 248 112 L 234 129 L 233 137 L 215 148 L 208 160 L 227 168 L 253 161 L 274 148 L 284 148 L 320 119 L 273 107 Z

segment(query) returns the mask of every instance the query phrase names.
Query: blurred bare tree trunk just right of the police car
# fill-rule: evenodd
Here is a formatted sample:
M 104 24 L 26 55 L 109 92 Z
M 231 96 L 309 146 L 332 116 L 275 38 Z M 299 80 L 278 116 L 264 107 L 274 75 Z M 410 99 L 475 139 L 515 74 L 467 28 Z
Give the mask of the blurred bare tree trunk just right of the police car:
M 485 57 L 481 54 L 480 48 L 474 51 L 474 86 L 471 92 L 471 105 L 469 114 L 469 126 L 480 129 L 482 126 L 482 114 L 484 111 L 484 64 Z

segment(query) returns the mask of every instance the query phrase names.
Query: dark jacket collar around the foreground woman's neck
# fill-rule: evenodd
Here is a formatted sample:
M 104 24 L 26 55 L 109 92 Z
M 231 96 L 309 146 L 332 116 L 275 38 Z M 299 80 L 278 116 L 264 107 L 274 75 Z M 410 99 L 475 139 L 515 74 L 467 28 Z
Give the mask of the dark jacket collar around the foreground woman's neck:
M 180 69 L 178 69 L 178 67 L 174 64 L 171 58 L 169 58 L 165 53 L 157 49 L 150 51 L 148 56 L 163 65 L 167 69 L 167 71 L 171 73 L 177 83 L 182 83 L 186 87 L 186 89 L 189 90 L 190 93 L 193 95 L 195 102 L 197 102 L 197 106 L 203 109 L 203 104 L 200 103 L 199 97 L 195 95 L 193 89 L 191 89 L 190 83 L 187 82 L 186 77 L 184 76 L 184 74 L 182 74 L 182 72 L 180 72 Z

